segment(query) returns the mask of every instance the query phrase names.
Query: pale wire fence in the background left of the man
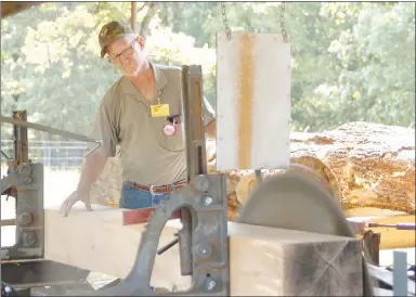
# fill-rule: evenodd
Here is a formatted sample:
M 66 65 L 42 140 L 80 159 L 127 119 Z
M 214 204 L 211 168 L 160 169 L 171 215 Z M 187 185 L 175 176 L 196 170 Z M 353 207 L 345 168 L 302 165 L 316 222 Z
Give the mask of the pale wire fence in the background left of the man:
M 1 140 L 1 150 L 14 158 L 12 140 Z M 29 140 L 29 159 L 52 170 L 79 170 L 87 152 L 84 142 Z M 4 167 L 8 167 L 8 160 L 1 156 L 1 168 Z

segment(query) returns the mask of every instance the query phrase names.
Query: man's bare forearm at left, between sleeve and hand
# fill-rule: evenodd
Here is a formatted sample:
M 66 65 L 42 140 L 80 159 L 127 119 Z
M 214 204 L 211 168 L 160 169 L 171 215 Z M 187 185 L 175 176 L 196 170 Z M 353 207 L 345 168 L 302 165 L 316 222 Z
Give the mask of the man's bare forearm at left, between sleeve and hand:
M 89 193 L 92 184 L 100 178 L 108 157 L 95 151 L 91 153 L 83 165 L 77 191 Z

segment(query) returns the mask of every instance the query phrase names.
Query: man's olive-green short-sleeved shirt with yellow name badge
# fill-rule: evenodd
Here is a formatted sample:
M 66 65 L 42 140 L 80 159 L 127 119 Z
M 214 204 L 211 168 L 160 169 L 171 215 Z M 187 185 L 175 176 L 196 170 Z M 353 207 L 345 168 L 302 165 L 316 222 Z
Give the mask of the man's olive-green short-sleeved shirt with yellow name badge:
M 99 150 L 109 157 L 115 156 L 117 145 L 120 147 L 123 180 L 162 185 L 186 179 L 182 69 L 151 65 L 156 78 L 155 101 L 145 100 L 128 78 L 121 77 L 104 95 L 93 138 L 102 141 Z M 152 104 L 169 104 L 170 117 L 180 122 L 173 135 L 164 133 L 169 116 L 151 116 Z M 207 125 L 214 119 L 214 111 L 205 98 L 204 107 Z

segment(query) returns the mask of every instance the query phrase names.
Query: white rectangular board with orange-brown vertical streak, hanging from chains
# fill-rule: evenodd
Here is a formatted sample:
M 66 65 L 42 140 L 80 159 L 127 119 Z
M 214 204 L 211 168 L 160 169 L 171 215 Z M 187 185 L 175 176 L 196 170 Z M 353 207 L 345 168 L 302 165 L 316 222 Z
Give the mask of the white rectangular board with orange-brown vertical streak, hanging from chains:
M 286 168 L 290 44 L 280 34 L 217 36 L 217 170 Z

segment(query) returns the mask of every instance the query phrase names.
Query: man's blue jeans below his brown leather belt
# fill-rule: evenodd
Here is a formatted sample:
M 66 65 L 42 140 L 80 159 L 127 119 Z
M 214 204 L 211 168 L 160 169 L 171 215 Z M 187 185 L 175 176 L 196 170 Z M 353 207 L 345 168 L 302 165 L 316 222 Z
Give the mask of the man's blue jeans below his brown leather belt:
M 118 206 L 128 209 L 156 207 L 161 201 L 168 197 L 169 193 L 152 194 L 151 192 L 134 188 L 130 182 L 123 182 Z

